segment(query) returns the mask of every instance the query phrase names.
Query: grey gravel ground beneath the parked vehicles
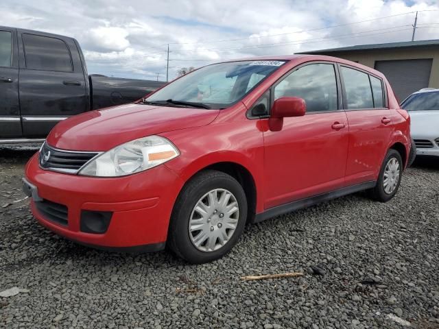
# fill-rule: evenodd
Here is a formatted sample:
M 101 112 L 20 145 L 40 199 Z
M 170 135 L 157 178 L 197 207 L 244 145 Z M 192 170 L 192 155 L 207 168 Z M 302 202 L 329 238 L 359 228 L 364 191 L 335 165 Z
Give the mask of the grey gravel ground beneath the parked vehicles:
M 42 228 L 27 200 L 12 204 L 34 151 L 0 145 L 0 291 L 25 289 L 0 297 L 0 328 L 403 328 L 389 314 L 439 328 L 438 160 L 417 160 L 387 204 L 359 193 L 276 217 L 195 266 Z M 239 280 L 288 271 L 305 276 Z

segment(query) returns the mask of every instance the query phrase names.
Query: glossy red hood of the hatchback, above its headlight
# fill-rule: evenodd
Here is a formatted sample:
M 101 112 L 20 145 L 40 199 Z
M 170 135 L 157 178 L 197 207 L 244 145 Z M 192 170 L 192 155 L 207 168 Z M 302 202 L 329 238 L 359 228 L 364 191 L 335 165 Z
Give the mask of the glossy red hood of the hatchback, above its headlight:
M 219 110 L 131 103 L 95 110 L 61 121 L 47 136 L 58 149 L 108 151 L 136 138 L 208 125 Z

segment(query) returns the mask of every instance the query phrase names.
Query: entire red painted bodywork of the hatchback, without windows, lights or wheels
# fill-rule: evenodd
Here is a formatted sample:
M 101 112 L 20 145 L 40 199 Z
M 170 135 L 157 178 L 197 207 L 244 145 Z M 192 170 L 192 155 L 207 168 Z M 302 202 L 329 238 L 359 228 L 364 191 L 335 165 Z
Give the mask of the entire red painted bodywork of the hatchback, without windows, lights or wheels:
M 267 58 L 264 58 L 267 59 Z M 257 60 L 257 58 L 255 58 Z M 234 164 L 249 173 L 256 209 L 376 180 L 385 153 L 395 143 L 410 148 L 410 117 L 399 108 L 385 77 L 366 66 L 327 56 L 277 56 L 287 60 L 244 99 L 223 110 L 148 106 L 134 103 L 80 114 L 62 121 L 47 137 L 58 149 L 107 151 L 152 134 L 169 139 L 180 156 L 122 178 L 89 178 L 47 171 L 34 156 L 27 180 L 40 197 L 69 209 L 69 226 L 40 223 L 69 239 L 108 247 L 166 241 L 169 218 L 182 187 L 211 165 Z M 273 84 L 300 64 L 338 62 L 381 77 L 388 107 L 375 110 L 309 112 L 302 117 L 254 119 L 249 109 Z M 105 234 L 80 232 L 81 210 L 112 211 Z

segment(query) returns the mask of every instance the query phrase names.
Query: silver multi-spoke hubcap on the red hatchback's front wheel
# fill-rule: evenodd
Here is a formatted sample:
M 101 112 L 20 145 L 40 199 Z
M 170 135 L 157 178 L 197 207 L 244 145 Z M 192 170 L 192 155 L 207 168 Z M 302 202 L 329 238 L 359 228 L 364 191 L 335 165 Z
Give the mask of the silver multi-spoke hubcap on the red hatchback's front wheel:
M 203 195 L 192 210 L 189 220 L 191 242 L 202 252 L 222 248 L 235 233 L 238 220 L 239 206 L 235 195 L 216 188 Z

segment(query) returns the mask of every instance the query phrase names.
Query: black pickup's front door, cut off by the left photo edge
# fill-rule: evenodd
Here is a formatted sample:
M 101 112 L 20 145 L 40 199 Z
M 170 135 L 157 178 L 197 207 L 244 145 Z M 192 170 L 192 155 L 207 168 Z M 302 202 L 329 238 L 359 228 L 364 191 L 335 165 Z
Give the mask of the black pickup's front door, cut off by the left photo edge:
M 0 140 L 21 137 L 15 29 L 0 27 Z

